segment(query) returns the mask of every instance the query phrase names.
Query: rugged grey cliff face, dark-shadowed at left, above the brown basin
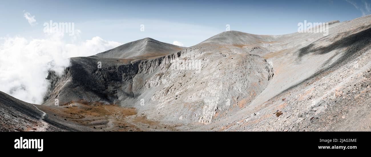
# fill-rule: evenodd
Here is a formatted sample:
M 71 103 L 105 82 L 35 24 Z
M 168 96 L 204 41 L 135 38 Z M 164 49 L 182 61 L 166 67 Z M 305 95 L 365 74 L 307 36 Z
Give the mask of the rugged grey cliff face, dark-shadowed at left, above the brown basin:
M 258 55 L 213 49 L 199 46 L 147 60 L 71 58 L 63 76 L 49 73 L 52 90 L 44 105 L 86 100 L 134 107 L 159 121 L 210 124 L 244 108 L 273 77 Z

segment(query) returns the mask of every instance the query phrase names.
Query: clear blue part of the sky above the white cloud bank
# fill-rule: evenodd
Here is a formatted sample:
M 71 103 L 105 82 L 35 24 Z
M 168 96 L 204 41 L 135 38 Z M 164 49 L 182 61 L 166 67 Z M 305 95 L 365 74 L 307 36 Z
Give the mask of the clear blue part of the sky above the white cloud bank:
M 189 47 L 225 31 L 227 24 L 231 30 L 280 35 L 295 32 L 297 24 L 304 20 L 345 21 L 361 17 L 362 10 L 370 14 L 366 7 L 370 0 L 348 1 L 10 0 L 1 2 L 0 37 L 39 38 L 43 35 L 43 23 L 53 20 L 74 22 L 82 40 L 99 36 L 127 43 L 150 37 L 168 43 L 180 41 Z M 30 26 L 24 12 L 35 16 L 37 25 Z M 145 26 L 144 32 L 139 30 L 141 24 Z

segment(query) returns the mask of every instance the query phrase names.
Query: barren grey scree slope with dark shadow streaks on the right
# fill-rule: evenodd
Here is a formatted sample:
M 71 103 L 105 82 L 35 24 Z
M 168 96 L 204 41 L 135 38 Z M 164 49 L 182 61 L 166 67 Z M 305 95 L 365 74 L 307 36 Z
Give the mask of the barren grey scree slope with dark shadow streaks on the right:
M 198 129 L 370 131 L 370 29 L 365 16 L 330 25 L 328 36 L 283 35 L 263 55 L 275 73 L 265 90 L 235 116 Z

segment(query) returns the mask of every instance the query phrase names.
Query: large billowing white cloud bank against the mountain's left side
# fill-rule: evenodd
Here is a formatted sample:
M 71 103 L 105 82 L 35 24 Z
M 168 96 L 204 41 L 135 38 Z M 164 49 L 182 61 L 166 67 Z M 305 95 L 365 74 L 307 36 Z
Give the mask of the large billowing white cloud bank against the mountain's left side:
M 42 103 L 47 90 L 47 70 L 62 73 L 69 57 L 90 56 L 122 45 L 96 36 L 67 44 L 63 33 L 46 34 L 43 39 L 15 36 L 0 38 L 0 91 L 17 99 Z M 53 60 L 53 65 L 48 64 Z

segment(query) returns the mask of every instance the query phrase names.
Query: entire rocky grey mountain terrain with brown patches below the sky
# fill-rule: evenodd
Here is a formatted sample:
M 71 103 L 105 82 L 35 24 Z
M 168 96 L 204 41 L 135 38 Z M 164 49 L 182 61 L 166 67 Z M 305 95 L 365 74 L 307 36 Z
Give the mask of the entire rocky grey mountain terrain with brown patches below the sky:
M 329 27 L 228 31 L 188 48 L 145 38 L 70 58 L 49 71 L 42 105 L 0 93 L 0 129 L 371 131 L 371 16 Z

